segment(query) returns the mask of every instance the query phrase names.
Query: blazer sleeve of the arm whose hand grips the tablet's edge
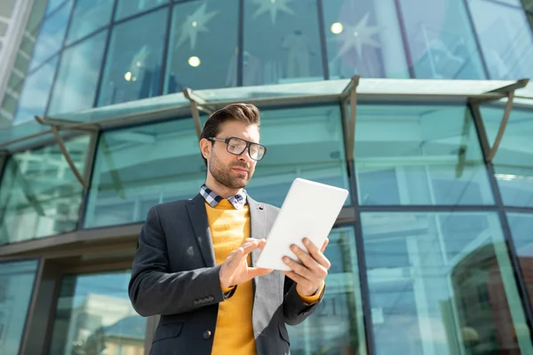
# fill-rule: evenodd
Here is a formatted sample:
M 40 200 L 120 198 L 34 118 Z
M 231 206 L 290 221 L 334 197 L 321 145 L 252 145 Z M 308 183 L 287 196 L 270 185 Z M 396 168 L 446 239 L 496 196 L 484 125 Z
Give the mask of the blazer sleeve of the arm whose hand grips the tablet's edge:
M 306 304 L 302 300 L 296 290 L 296 282 L 290 280 L 288 277 L 285 277 L 283 292 L 283 317 L 285 323 L 290 326 L 297 326 L 316 311 L 316 308 L 322 302 L 325 285 L 322 288 L 319 300 L 313 304 Z

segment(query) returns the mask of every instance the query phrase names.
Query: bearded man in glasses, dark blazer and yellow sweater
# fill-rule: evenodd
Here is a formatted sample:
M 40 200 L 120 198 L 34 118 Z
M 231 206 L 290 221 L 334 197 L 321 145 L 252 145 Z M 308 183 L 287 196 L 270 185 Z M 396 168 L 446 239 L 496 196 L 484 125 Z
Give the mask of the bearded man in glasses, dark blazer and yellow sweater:
M 329 260 L 304 240 L 291 272 L 254 267 L 278 209 L 244 190 L 267 148 L 259 110 L 229 105 L 205 122 L 200 150 L 207 177 L 194 199 L 150 209 L 129 285 L 142 316 L 161 315 L 150 354 L 288 354 L 285 324 L 322 300 Z

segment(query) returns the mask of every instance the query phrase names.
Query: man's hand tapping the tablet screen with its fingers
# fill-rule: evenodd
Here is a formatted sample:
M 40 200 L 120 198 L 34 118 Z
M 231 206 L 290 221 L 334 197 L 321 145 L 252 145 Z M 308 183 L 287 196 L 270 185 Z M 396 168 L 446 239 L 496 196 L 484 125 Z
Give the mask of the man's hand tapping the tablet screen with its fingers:
M 266 242 L 264 239 L 249 238 L 244 241 L 241 247 L 232 251 L 224 260 L 222 266 L 220 266 L 220 285 L 223 288 L 231 288 L 256 276 L 273 272 L 272 269 L 261 269 L 259 267 L 249 267 L 248 265 L 248 255 L 257 248 L 263 248 Z

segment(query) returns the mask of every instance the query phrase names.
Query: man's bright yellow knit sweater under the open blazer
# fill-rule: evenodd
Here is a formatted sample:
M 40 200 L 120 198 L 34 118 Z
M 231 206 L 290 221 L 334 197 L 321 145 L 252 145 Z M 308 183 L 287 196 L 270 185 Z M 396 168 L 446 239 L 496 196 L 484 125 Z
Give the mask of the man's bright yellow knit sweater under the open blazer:
M 250 238 L 250 209 L 235 209 L 227 200 L 222 200 L 212 208 L 205 203 L 207 219 L 217 264 L 222 264 L 229 253 L 239 248 L 243 241 Z M 250 257 L 248 258 L 250 264 Z M 323 286 L 322 286 L 323 287 Z M 300 296 L 306 303 L 318 300 L 317 296 Z M 213 339 L 213 355 L 251 355 L 256 354 L 251 311 L 253 290 L 251 280 L 237 287 L 235 294 L 219 304 L 217 328 Z

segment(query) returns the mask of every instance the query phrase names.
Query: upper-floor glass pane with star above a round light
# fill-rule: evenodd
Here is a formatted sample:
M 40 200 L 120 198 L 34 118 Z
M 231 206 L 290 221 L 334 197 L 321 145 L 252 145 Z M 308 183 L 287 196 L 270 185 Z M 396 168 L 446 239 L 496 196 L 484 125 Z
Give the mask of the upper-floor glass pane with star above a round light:
M 165 92 L 236 85 L 236 9 L 237 0 L 174 5 Z

